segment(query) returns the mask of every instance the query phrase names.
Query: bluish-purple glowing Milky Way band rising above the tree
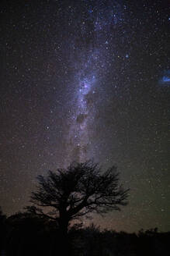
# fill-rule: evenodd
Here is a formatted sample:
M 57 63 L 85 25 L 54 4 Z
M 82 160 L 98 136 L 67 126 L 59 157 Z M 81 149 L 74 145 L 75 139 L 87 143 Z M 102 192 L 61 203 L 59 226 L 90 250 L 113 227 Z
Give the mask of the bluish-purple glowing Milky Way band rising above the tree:
M 69 8 L 72 11 L 72 7 Z M 94 105 L 95 95 L 93 94 L 99 90 L 106 70 L 110 72 L 109 41 L 113 44 L 113 36 L 110 34 L 111 30 L 123 20 L 121 9 L 126 9 L 126 5 L 121 7 L 115 1 L 108 1 L 107 5 L 103 1 L 89 1 L 85 5 L 84 16 L 80 12 L 73 22 L 77 32 L 71 41 L 73 48 L 70 55 L 74 63 L 72 65 L 76 67 L 75 84 L 77 86 L 71 85 L 75 91 L 75 109 L 72 112 L 68 134 L 69 162 L 72 160 L 83 162 L 90 157 L 88 154 L 92 148 L 90 126 L 94 126 L 95 108 L 98 108 Z M 82 37 L 82 40 L 76 44 L 78 37 Z M 75 61 L 75 55 L 77 61 Z

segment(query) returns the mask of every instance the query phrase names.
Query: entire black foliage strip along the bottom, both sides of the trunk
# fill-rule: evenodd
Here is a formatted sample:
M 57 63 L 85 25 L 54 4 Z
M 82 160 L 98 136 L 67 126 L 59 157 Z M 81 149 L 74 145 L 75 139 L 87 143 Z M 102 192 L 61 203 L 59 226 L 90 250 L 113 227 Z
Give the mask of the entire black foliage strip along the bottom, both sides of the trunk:
M 65 244 L 61 245 L 60 230 L 54 222 L 35 215 L 19 213 L 5 222 L 6 256 L 54 256 L 61 255 Z M 170 233 L 159 233 L 156 229 L 142 230 L 139 233 L 125 233 L 104 230 L 91 225 L 68 232 L 72 256 L 134 256 L 168 255 Z

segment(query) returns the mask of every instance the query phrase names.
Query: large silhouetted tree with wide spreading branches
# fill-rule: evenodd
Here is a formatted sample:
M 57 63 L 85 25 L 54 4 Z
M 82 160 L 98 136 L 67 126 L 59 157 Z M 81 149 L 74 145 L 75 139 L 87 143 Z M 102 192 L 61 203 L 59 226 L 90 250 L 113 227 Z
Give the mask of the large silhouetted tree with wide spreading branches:
M 127 192 L 119 185 L 119 173 L 113 166 L 102 172 L 91 161 L 73 163 L 68 169 L 49 171 L 47 177 L 38 176 L 36 192 L 32 192 L 27 206 L 29 212 L 53 219 L 61 235 L 66 236 L 72 219 L 91 212 L 105 214 L 120 210 L 127 204 Z

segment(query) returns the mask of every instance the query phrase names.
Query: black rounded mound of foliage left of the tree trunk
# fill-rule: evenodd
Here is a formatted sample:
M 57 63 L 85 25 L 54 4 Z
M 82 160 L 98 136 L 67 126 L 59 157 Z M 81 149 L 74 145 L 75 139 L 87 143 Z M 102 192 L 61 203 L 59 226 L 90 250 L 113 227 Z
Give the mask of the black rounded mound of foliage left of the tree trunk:
M 28 213 L 18 213 L 7 219 L 7 255 L 52 255 L 55 247 L 57 229 L 54 222 Z

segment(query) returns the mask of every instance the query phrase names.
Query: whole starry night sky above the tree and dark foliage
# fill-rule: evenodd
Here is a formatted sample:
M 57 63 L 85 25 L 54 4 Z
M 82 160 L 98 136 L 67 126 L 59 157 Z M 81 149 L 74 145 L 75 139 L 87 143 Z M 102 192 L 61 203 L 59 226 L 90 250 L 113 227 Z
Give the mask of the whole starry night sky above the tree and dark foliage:
M 37 175 L 92 158 L 117 165 L 130 188 L 130 204 L 95 223 L 169 231 L 170 2 L 2 1 L 0 9 L 3 212 L 28 204 Z

